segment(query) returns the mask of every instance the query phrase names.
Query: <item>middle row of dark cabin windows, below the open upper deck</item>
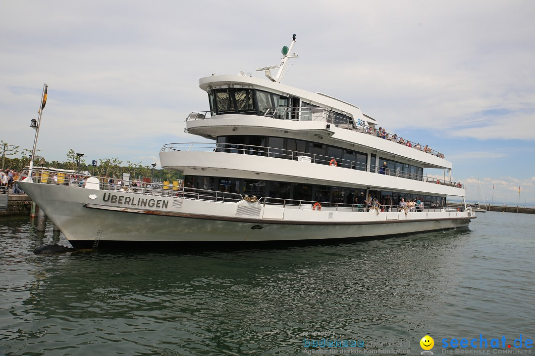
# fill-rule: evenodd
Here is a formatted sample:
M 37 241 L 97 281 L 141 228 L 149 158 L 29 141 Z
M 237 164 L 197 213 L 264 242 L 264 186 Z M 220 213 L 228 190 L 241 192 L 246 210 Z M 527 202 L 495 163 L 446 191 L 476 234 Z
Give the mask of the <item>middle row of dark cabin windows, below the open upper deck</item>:
M 298 160 L 300 155 L 311 157 L 312 162 L 330 164 L 334 159 L 338 167 L 366 170 L 368 155 L 347 148 L 320 144 L 312 141 L 273 136 L 219 136 L 216 152 L 240 153 Z M 269 149 L 268 149 L 269 147 Z M 377 156 L 371 155 L 371 172 L 375 172 Z M 422 180 L 423 168 L 407 163 L 379 158 L 379 165 L 387 162 L 389 175 Z

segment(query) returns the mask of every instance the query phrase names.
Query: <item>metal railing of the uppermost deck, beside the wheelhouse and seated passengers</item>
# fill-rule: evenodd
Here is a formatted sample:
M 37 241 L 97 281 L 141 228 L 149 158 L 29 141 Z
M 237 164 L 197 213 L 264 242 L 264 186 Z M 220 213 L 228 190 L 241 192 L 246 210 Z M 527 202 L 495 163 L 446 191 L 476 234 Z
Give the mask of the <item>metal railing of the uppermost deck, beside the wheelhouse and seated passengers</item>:
M 254 113 L 252 113 L 254 114 Z M 356 121 L 347 115 L 333 112 L 332 110 L 320 107 L 280 107 L 280 108 L 266 108 L 261 110 L 261 115 L 264 117 L 276 118 L 278 120 L 293 120 L 293 121 L 319 121 L 334 124 L 338 128 L 357 131 L 366 135 L 376 136 L 377 138 L 387 139 L 394 141 L 398 144 L 418 149 L 431 155 L 444 158 L 444 154 L 435 151 L 427 146 L 422 146 L 414 141 L 404 140 L 401 137 L 392 135 L 386 132 L 386 130 L 379 131 L 379 129 L 366 124 L 365 120 L 357 118 Z M 204 120 L 205 118 L 211 118 L 211 112 L 193 112 L 189 114 L 186 121 L 190 120 Z

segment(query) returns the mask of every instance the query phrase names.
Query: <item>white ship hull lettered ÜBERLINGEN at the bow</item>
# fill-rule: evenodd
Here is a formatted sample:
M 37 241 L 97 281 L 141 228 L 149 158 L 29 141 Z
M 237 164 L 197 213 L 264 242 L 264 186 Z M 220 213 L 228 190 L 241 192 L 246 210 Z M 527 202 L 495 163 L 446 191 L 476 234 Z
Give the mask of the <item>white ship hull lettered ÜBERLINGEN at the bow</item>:
M 364 238 L 468 226 L 461 211 L 282 208 L 21 182 L 75 248 Z M 174 193 L 174 196 L 173 196 Z M 331 209 L 328 210 L 328 209 Z

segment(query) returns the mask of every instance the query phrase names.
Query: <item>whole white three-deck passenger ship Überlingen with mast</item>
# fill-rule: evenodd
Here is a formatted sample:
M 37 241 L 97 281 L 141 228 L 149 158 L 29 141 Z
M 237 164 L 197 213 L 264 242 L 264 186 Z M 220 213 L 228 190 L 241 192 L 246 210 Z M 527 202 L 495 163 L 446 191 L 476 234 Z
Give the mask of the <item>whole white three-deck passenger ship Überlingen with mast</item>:
M 85 187 L 35 178 L 20 185 L 75 248 L 363 238 L 468 226 L 475 214 L 441 153 L 381 137 L 376 121 L 355 105 L 280 83 L 287 60 L 296 57 L 288 54 L 294 44 L 295 35 L 278 66 L 258 69 L 268 80 L 242 72 L 199 80 L 210 110 L 190 114 L 186 131 L 213 143 L 167 144 L 160 153 L 163 168 L 184 172 L 184 187 L 117 191 L 96 177 Z M 441 178 L 425 176 L 429 169 L 441 169 Z M 448 208 L 447 196 L 461 198 L 462 208 Z M 399 207 L 402 198 L 419 199 L 422 207 Z

